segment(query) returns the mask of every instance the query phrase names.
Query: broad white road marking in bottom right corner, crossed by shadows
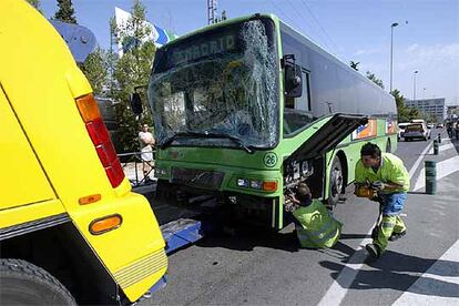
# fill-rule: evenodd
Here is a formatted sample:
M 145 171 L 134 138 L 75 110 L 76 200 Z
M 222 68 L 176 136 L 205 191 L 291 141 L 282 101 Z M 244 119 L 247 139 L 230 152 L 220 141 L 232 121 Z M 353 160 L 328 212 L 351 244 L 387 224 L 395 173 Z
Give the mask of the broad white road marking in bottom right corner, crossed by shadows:
M 459 305 L 458 276 L 459 241 L 457 241 L 392 306 L 401 305 Z M 442 276 L 449 272 L 453 276 Z M 432 282 L 436 279 L 438 282 Z M 445 285 L 449 286 L 445 286 Z M 452 288 L 452 289 L 451 289 Z M 437 295 L 435 294 L 437 293 Z M 442 295 L 442 296 L 440 296 Z M 452 296 L 451 296 L 452 295 Z

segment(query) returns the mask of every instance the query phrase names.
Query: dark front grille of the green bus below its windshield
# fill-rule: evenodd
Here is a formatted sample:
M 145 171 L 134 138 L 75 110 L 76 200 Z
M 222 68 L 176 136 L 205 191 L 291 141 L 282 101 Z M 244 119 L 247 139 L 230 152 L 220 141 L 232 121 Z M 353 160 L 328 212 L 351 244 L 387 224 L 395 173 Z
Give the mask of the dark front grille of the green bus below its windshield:
M 222 185 L 223 172 L 204 171 L 198 169 L 172 169 L 172 183 L 196 187 L 217 190 Z

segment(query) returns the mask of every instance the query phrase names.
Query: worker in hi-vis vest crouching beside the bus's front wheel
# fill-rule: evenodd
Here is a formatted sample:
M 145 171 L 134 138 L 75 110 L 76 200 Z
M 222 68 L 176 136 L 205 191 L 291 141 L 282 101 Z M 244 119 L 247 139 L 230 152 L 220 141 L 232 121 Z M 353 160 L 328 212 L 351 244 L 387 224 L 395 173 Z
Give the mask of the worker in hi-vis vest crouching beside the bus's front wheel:
M 298 185 L 292 201 L 298 207 L 293 215 L 297 221 L 295 227 L 299 245 L 308 248 L 334 246 L 339 239 L 343 225 L 330 215 L 320 201 L 313 200 L 305 183 Z

